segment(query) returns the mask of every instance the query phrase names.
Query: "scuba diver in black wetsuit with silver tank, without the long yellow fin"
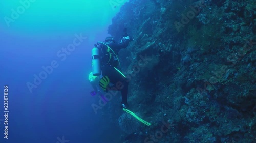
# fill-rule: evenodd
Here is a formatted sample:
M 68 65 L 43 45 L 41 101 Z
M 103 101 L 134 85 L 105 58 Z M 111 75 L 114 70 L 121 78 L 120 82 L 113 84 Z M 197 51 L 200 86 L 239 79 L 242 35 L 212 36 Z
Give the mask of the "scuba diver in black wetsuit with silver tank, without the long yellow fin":
M 104 42 L 97 42 L 92 49 L 92 71 L 94 76 L 102 73 L 99 86 L 104 92 L 108 90 L 121 91 L 121 105 L 128 106 L 128 82 L 126 77 L 118 70 L 120 62 L 117 53 L 120 49 L 126 48 L 130 42 L 130 37 L 125 35 L 120 43 L 113 37 L 106 37 Z M 110 86 L 112 83 L 114 85 Z M 118 87 L 117 87 L 118 86 Z M 121 87 L 121 88 L 119 88 Z

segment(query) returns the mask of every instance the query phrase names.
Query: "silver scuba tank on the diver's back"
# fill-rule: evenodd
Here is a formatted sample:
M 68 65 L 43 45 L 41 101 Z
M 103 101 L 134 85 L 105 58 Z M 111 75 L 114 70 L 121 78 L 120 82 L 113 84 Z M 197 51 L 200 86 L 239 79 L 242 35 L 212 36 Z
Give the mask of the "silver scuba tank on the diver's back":
M 95 46 L 92 49 L 92 70 L 94 76 L 101 75 L 99 49 Z

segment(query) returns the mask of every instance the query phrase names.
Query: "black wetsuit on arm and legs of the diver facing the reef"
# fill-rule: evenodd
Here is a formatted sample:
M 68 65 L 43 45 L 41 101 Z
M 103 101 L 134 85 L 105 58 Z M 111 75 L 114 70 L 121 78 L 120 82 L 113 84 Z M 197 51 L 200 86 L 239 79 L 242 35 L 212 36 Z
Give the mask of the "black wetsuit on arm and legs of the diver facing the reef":
M 117 55 L 118 52 L 120 51 L 120 49 L 126 48 L 129 44 L 129 40 L 118 44 L 116 42 L 111 42 L 108 43 L 107 45 L 115 52 L 115 54 Z M 114 55 L 114 54 L 112 54 Z M 113 58 L 113 57 L 112 57 Z M 108 58 L 107 58 L 108 59 Z M 128 95 L 128 82 L 127 80 L 122 76 L 121 73 L 119 73 L 114 66 L 117 68 L 117 61 L 116 60 L 111 60 L 112 62 L 107 63 L 108 61 L 104 60 L 102 61 L 104 64 L 101 64 L 101 71 L 102 71 L 102 76 L 108 76 L 108 78 L 110 79 L 110 83 L 114 84 L 114 87 L 116 86 L 117 83 L 122 83 L 122 88 L 118 89 L 119 91 L 121 91 L 122 94 L 122 102 L 125 104 L 125 106 L 128 106 L 128 102 L 127 102 L 127 95 Z M 106 64 L 107 63 L 107 64 Z M 110 90 L 110 89 L 109 89 Z M 113 88 L 112 88 L 113 90 Z

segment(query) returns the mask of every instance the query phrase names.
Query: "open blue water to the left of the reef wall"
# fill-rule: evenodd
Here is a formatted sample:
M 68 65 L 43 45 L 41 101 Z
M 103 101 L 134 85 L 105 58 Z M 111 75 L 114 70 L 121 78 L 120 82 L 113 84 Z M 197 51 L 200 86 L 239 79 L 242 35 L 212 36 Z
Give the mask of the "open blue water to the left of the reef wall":
M 111 127 L 91 107 L 96 97 L 89 94 L 93 89 L 88 75 L 91 49 L 109 36 L 107 28 L 124 1 L 114 9 L 109 1 L 30 3 L 17 19 L 6 22 L 11 9 L 21 4 L 0 2 L 0 142 L 104 142 L 102 134 L 114 138 L 105 133 Z M 83 38 L 72 51 L 62 51 L 75 35 Z M 48 67 L 48 73 L 42 67 Z

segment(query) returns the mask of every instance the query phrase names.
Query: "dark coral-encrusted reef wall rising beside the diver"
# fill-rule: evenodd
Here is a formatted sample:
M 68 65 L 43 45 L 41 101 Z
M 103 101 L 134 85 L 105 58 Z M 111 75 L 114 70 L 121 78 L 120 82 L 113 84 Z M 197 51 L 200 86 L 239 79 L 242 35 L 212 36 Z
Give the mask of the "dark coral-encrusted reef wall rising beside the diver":
M 108 32 L 134 39 L 119 59 L 132 110 L 152 123 L 132 142 L 256 141 L 255 18 L 255 0 L 122 6 Z

